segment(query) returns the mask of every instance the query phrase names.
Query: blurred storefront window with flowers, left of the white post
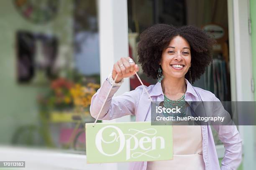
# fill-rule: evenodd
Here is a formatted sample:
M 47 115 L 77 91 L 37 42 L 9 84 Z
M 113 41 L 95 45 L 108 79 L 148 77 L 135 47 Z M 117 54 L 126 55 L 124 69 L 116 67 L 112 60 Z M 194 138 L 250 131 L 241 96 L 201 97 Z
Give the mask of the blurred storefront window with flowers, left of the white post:
M 0 143 L 84 153 L 84 124 L 95 120 L 89 108 L 100 87 L 96 1 L 0 4 Z

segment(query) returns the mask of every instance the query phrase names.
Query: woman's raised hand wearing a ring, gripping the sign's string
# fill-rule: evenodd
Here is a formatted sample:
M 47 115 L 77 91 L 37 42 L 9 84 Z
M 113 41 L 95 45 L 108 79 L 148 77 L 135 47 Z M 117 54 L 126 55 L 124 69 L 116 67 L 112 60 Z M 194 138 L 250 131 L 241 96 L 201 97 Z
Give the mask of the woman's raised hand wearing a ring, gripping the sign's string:
M 115 82 L 118 83 L 125 77 L 131 77 L 132 75 L 135 75 L 134 71 L 138 72 L 138 70 L 138 65 L 134 63 L 131 57 L 122 57 L 113 66 L 112 78 L 115 80 L 115 76 L 118 74 L 118 77 L 115 80 Z

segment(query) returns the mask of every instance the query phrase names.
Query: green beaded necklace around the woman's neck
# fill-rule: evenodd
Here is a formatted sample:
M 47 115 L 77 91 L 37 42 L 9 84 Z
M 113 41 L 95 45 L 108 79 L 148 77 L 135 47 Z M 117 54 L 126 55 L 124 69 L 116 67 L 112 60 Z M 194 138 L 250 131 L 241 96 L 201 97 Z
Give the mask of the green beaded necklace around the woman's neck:
M 186 93 L 184 93 L 184 95 L 182 95 L 182 97 L 180 97 L 178 100 L 171 100 L 171 99 L 169 99 L 166 95 L 164 95 L 164 107 L 165 107 L 165 108 L 170 108 L 170 109 L 172 109 L 172 108 L 176 108 L 176 106 L 177 106 L 178 108 L 181 108 L 181 109 L 180 109 L 180 112 L 181 112 L 181 113 L 164 113 L 164 112 L 163 112 L 163 114 L 164 114 L 165 117 L 169 117 L 169 116 L 173 116 L 173 117 L 177 117 L 177 116 L 179 116 L 179 117 L 184 117 L 184 115 L 185 115 L 185 106 L 186 106 L 185 94 L 186 94 Z

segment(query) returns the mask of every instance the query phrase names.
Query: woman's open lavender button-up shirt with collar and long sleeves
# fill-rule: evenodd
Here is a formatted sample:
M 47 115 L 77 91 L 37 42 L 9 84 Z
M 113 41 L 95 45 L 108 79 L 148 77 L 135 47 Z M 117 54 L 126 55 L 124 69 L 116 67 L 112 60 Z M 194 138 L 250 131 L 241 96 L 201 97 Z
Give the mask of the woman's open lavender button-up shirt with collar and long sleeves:
M 220 101 L 215 95 L 199 87 L 193 87 L 187 79 L 186 101 Z M 90 107 L 92 117 L 97 117 L 105 97 L 110 90 L 110 83 L 105 80 L 99 90 L 93 95 Z M 142 85 L 123 95 L 113 97 L 119 87 L 113 87 L 102 109 L 99 120 L 112 120 L 125 115 L 136 115 L 136 121 L 148 121 L 151 114 L 151 100 Z M 145 87 L 153 101 L 163 101 L 164 93 L 161 83 Z M 221 168 L 215 148 L 210 125 L 202 125 L 202 155 L 205 170 L 236 170 L 242 159 L 242 143 L 240 134 L 235 125 L 213 125 L 218 132 L 219 139 L 225 147 Z M 146 170 L 147 162 L 133 162 L 131 170 Z

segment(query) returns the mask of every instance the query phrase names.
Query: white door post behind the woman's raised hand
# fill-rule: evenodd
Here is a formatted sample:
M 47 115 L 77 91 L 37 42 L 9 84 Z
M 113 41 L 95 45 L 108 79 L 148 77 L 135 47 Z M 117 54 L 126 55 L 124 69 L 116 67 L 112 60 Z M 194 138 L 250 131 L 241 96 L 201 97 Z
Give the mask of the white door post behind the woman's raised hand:
M 100 83 L 112 72 L 115 62 L 128 57 L 127 0 L 97 0 L 100 33 Z M 125 78 L 115 95 L 130 91 L 130 79 Z M 131 116 L 123 116 L 103 122 L 130 122 Z M 129 163 L 106 163 L 104 169 L 128 170 Z M 95 164 L 95 167 L 98 165 Z

